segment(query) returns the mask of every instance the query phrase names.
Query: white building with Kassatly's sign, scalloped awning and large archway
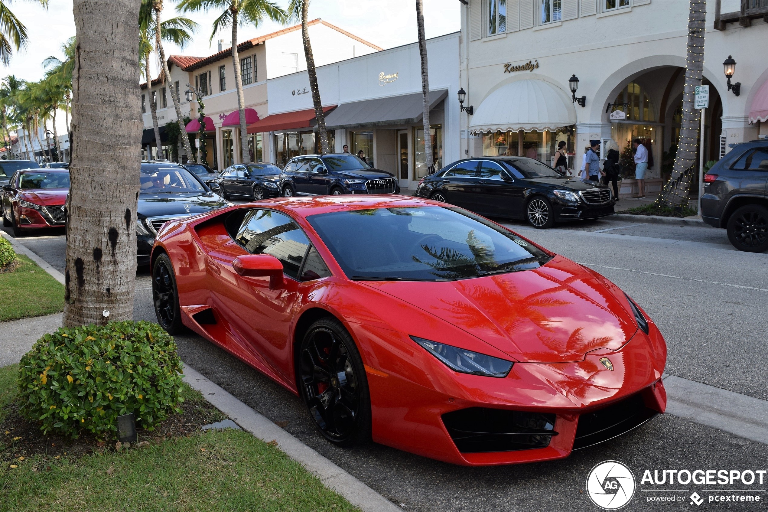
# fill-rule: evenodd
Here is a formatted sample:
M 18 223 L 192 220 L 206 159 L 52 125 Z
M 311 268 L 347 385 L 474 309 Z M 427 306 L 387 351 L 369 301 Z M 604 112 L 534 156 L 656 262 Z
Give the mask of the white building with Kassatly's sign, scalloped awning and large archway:
M 766 0 L 708 0 L 705 159 L 768 135 Z M 568 142 L 581 167 L 588 140 L 651 142 L 647 191 L 660 190 L 680 136 L 687 48 L 686 0 L 468 0 L 462 8 L 462 152 L 525 154 L 550 163 Z M 730 14 L 729 14 L 730 13 Z M 723 61 L 737 61 L 729 90 Z M 578 77 L 574 103 L 568 80 Z M 624 114 L 614 114 L 623 111 Z M 622 118 L 624 117 L 624 118 Z M 666 158 L 665 158 L 666 154 Z M 622 194 L 634 180 L 624 179 Z

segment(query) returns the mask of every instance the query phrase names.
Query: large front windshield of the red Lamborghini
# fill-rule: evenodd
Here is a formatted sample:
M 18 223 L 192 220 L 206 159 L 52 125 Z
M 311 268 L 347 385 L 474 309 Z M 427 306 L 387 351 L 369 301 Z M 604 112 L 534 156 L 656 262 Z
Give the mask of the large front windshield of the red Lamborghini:
M 442 281 L 535 269 L 551 258 L 492 222 L 449 206 L 307 217 L 349 279 Z

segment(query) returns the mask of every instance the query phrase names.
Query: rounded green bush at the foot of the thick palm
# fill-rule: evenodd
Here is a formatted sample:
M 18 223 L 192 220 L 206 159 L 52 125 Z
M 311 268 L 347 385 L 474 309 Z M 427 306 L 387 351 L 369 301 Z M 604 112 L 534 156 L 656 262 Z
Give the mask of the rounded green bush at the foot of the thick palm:
M 22 415 L 45 433 L 111 438 L 133 412 L 152 430 L 181 412 L 176 343 L 151 322 L 109 322 L 46 334 L 19 363 Z

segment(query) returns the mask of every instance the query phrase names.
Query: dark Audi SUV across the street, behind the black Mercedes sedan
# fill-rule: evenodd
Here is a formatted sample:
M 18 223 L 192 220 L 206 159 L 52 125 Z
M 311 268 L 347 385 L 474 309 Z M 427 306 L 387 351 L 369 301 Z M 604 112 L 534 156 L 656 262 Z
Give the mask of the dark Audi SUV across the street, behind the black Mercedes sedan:
M 283 196 L 344 193 L 400 193 L 396 177 L 373 169 L 353 154 L 294 157 L 280 174 Z

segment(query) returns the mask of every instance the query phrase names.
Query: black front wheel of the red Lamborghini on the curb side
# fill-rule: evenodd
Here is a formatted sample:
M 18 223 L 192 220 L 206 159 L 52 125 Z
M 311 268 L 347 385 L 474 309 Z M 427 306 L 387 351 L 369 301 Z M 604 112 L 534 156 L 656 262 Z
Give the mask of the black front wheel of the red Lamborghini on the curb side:
M 371 438 L 371 402 L 362 358 L 339 320 L 314 322 L 301 342 L 299 388 L 310 417 L 333 444 Z

